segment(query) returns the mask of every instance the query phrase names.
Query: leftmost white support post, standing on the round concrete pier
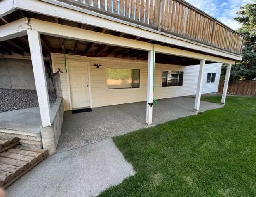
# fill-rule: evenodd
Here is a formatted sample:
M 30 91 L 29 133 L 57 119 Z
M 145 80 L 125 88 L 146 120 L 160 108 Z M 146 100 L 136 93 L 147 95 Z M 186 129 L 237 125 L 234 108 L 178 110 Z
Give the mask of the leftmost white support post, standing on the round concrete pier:
M 51 126 L 51 109 L 49 103 L 47 82 L 45 77 L 45 65 L 42 55 L 40 34 L 34 30 L 27 30 L 27 34 L 33 66 L 33 73 L 35 78 L 36 93 L 38 95 L 38 103 L 42 126 L 47 127 Z

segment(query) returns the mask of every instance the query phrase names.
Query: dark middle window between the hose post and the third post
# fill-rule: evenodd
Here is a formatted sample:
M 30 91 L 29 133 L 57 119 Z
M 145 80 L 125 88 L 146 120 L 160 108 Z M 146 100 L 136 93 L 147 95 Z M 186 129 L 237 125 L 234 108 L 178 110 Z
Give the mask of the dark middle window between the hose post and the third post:
M 184 72 L 162 71 L 162 87 L 183 85 Z

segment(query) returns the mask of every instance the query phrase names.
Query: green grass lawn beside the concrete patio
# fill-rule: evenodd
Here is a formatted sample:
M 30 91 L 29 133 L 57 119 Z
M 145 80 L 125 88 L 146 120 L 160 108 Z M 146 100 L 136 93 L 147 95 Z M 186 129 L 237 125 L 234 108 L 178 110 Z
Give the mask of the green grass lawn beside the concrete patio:
M 223 108 L 113 140 L 136 175 L 100 197 L 256 196 L 255 98 L 229 96 Z

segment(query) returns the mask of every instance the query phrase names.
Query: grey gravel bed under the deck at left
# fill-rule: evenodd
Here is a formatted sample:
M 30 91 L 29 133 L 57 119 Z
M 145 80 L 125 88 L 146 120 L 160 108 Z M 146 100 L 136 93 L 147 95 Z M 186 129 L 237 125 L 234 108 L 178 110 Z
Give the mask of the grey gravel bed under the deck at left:
M 49 100 L 56 101 L 56 93 L 49 91 Z M 0 112 L 38 107 L 36 90 L 0 88 Z

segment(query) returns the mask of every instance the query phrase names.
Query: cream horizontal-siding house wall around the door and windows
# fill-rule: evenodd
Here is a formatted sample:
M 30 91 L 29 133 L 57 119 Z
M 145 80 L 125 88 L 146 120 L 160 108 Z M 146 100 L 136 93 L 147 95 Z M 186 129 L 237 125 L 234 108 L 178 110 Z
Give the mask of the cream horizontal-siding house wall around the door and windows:
M 77 55 L 66 55 L 66 66 L 72 62 L 89 62 L 89 77 L 91 87 L 91 107 L 100 107 L 106 105 L 116 105 L 122 103 L 132 103 L 146 101 L 147 92 L 147 68 L 148 63 L 136 60 L 120 60 L 106 58 L 89 58 Z M 52 54 L 52 64 L 55 71 L 58 68 L 64 70 L 64 55 Z M 101 64 L 96 68 L 94 64 Z M 140 88 L 136 89 L 107 89 L 106 68 L 134 68 L 140 69 Z M 221 73 L 221 64 L 207 64 L 205 66 L 204 85 L 202 93 L 217 92 L 218 81 Z M 162 70 L 184 71 L 183 86 L 178 87 L 161 87 Z M 215 83 L 206 84 L 207 73 L 216 73 Z M 171 98 L 177 96 L 188 96 L 196 93 L 197 79 L 199 74 L 199 65 L 195 66 L 178 66 L 168 64 L 155 64 L 155 99 Z M 68 90 L 68 73 L 60 75 L 61 89 L 64 101 L 64 109 L 70 110 L 70 95 Z

